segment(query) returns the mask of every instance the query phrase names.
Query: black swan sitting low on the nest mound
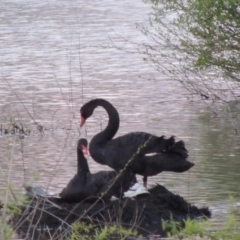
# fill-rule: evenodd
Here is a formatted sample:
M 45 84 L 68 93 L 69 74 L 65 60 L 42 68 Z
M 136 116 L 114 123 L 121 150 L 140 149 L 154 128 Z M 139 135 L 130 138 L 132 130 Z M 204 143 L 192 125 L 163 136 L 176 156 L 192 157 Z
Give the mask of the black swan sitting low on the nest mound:
M 81 138 L 78 140 L 77 174 L 59 194 L 61 197 L 60 202 L 80 202 L 86 198 L 98 197 L 103 193 L 105 193 L 104 200 L 109 199 L 112 195 L 121 197 L 123 192 L 128 190 L 132 183 L 136 182 L 135 175 L 127 171 L 119 177 L 117 177 L 118 174 L 115 171 L 99 171 L 91 174 L 87 159 L 84 156 L 87 145 L 86 139 Z

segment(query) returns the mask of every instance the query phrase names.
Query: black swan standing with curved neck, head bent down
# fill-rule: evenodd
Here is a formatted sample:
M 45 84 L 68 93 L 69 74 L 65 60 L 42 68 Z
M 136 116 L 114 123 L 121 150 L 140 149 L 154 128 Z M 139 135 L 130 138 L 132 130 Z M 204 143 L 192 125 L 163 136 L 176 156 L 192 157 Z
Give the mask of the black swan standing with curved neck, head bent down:
M 188 151 L 184 142 L 175 142 L 174 137 L 165 139 L 145 132 L 132 132 L 112 139 L 119 128 L 119 114 L 116 108 L 104 99 L 94 99 L 85 103 L 80 109 L 83 126 L 95 108 L 103 107 L 109 116 L 107 127 L 95 135 L 90 143 L 92 158 L 108 165 L 116 171 L 128 169 L 134 174 L 142 175 L 144 186 L 147 176 L 162 171 L 184 172 L 194 164 L 187 161 Z M 147 156 L 146 154 L 153 154 Z

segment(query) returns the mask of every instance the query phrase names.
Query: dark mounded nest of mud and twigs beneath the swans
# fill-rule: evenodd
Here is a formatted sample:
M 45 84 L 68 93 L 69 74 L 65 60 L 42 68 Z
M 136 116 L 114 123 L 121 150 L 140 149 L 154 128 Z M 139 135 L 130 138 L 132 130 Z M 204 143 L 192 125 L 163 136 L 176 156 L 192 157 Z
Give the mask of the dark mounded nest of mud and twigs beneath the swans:
M 187 218 L 211 216 L 208 208 L 197 208 L 161 185 L 154 186 L 149 192 L 116 201 L 91 198 L 71 204 L 59 198 L 34 196 L 28 205 L 21 206 L 22 214 L 12 217 L 10 223 L 20 235 L 35 235 L 34 239 L 45 239 L 42 234 L 46 232 L 55 235 L 66 232 L 76 221 L 96 227 L 106 224 L 135 226 L 141 234 L 164 236 L 162 220 L 183 223 Z M 60 239 L 59 236 L 56 239 Z

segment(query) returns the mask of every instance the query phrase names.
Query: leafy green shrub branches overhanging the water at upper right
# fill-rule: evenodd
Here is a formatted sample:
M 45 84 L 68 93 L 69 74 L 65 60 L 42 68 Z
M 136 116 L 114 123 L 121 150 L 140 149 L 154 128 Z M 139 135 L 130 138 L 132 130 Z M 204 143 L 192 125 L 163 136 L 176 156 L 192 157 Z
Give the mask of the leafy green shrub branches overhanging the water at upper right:
M 154 30 L 146 58 L 205 99 L 226 100 L 223 81 L 240 82 L 240 4 L 237 0 L 150 0 Z M 164 64 L 162 64 L 164 62 Z M 233 87 L 224 85 L 231 91 Z M 226 91 L 225 91 L 226 92 Z

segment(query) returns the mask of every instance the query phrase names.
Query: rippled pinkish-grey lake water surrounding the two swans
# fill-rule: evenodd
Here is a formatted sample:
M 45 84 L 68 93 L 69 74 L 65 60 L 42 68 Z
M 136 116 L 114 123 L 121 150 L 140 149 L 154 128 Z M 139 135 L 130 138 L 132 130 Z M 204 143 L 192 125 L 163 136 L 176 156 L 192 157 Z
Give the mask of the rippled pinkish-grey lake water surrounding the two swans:
M 98 108 L 80 129 L 79 109 L 105 98 L 120 114 L 117 136 L 146 131 L 185 141 L 194 168 L 151 177 L 149 185 L 162 184 L 197 206 L 209 206 L 217 223 L 231 194 L 240 206 L 240 138 L 227 109 L 215 104 L 215 117 L 211 102 L 189 101 L 178 82 L 137 53 L 148 40 L 136 24 L 148 25 L 150 5 L 3 0 L 0 9 L 1 128 L 15 123 L 31 131 L 24 139 L 1 132 L 1 192 L 7 181 L 16 193 L 24 192 L 25 181 L 61 191 L 76 172 L 79 137 L 90 141 L 107 123 Z M 89 165 L 92 172 L 109 169 L 91 159 Z

